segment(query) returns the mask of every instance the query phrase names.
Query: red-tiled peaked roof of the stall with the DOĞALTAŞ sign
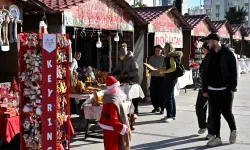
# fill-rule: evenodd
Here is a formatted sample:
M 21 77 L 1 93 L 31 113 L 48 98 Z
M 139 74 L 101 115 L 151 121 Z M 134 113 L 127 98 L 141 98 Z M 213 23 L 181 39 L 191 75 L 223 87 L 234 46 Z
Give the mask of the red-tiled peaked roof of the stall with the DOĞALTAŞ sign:
M 177 19 L 177 23 L 180 27 L 182 27 L 182 29 L 191 30 L 191 26 L 187 23 L 181 13 L 173 6 L 140 7 L 135 8 L 135 10 L 144 20 L 146 20 L 147 23 L 150 23 L 163 13 L 170 12 L 173 17 Z

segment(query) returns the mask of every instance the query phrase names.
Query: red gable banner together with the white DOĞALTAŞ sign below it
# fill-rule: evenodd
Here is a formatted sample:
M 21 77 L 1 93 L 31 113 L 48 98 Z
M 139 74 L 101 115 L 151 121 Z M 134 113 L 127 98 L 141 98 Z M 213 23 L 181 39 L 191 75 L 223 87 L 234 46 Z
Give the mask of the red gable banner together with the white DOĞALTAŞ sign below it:
M 148 25 L 148 32 L 155 33 L 154 44 L 164 47 L 166 42 L 174 48 L 183 48 L 182 29 L 170 14 L 164 13 Z

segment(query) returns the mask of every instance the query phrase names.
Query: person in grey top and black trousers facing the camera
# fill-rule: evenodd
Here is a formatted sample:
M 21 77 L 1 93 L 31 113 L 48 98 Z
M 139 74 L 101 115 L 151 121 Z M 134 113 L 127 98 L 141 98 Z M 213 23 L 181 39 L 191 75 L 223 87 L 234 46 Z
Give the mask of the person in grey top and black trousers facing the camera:
M 160 45 L 154 47 L 155 54 L 149 58 L 149 64 L 154 68 L 161 68 L 164 66 L 164 55 L 162 55 L 163 48 Z M 152 113 L 164 113 L 164 75 L 158 70 L 151 71 L 150 81 L 150 99 L 154 107 Z

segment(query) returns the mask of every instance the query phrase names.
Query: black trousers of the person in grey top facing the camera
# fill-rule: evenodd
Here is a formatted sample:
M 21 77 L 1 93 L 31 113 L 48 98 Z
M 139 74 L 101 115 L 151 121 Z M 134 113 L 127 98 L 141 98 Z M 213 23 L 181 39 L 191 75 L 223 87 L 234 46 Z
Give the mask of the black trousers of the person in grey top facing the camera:
M 164 109 L 164 77 L 151 76 L 150 99 L 154 109 Z

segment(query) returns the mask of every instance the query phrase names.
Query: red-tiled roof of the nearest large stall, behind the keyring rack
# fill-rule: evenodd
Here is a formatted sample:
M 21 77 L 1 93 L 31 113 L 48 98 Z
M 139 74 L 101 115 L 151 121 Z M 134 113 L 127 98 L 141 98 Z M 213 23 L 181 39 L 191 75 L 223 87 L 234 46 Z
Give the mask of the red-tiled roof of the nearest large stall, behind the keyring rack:
M 70 9 L 89 0 L 16 0 L 21 3 L 26 12 L 30 13 L 56 13 Z M 103 0 L 104 1 L 104 0 Z M 146 24 L 146 21 L 125 1 L 113 0 L 133 20 L 135 24 Z

